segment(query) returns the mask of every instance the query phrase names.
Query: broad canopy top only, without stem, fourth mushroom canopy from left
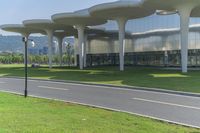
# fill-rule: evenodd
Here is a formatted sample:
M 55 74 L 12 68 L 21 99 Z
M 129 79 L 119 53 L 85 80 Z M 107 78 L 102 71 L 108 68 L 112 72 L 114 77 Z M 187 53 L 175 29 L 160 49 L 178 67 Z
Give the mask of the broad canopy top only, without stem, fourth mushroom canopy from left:
M 153 8 L 143 5 L 141 0 L 126 0 L 104 3 L 89 9 L 92 16 L 104 19 L 136 19 L 149 16 L 155 12 Z

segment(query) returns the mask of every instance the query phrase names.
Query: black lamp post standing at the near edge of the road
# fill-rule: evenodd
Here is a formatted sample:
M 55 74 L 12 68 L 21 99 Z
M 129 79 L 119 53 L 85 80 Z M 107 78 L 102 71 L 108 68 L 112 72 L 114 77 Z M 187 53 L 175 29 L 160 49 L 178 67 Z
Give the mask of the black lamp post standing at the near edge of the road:
M 24 76 L 25 76 L 25 89 L 24 89 L 24 97 L 26 98 L 28 96 L 28 88 L 27 88 L 27 81 L 28 81 L 28 54 L 27 54 L 27 48 L 28 48 L 28 41 L 33 42 L 33 40 L 28 39 L 27 37 L 23 37 L 22 41 L 24 42 L 24 48 L 25 48 L 25 57 L 24 57 Z

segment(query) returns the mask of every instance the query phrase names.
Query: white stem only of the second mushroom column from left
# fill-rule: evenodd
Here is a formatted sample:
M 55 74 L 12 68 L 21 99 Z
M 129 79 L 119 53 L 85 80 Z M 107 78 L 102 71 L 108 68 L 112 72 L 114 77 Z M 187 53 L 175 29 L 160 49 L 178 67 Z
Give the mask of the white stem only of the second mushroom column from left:
M 52 53 L 53 53 L 53 31 L 46 30 L 48 36 L 48 57 L 49 57 L 49 68 L 52 68 Z

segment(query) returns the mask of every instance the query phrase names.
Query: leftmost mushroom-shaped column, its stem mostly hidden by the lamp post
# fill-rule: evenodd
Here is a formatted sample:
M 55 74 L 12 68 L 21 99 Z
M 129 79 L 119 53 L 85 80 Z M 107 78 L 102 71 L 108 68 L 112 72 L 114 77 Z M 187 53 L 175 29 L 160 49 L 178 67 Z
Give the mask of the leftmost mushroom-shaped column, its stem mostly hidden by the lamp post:
M 45 34 L 44 31 L 42 31 L 42 30 L 38 30 L 38 29 L 34 29 L 34 28 L 27 28 L 22 24 L 6 24 L 6 25 L 0 26 L 0 28 L 5 31 L 19 33 L 27 39 L 29 38 L 29 35 L 32 33 Z M 27 46 L 25 46 L 25 47 L 27 48 Z M 24 50 L 24 51 L 26 51 L 26 50 Z M 25 52 L 24 52 L 24 58 L 25 58 Z M 25 59 L 24 59 L 24 63 L 25 63 Z

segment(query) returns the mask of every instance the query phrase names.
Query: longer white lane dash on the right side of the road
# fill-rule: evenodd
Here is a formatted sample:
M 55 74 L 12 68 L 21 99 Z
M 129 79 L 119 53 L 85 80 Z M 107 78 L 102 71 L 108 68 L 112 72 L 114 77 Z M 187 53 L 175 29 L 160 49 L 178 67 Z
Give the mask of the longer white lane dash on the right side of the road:
M 144 102 L 150 102 L 150 103 L 158 103 L 158 104 L 164 104 L 164 105 L 169 105 L 169 106 L 177 106 L 177 107 L 183 107 L 183 108 L 189 108 L 189 109 L 197 109 L 197 110 L 200 110 L 199 107 L 194 107 L 194 106 L 187 106 L 187 105 L 181 105 L 181 104 L 175 104 L 175 103 L 154 101 L 154 100 L 142 99 L 142 98 L 132 98 L 132 99 L 133 99 L 133 100 L 137 100 L 137 101 L 144 101 Z

